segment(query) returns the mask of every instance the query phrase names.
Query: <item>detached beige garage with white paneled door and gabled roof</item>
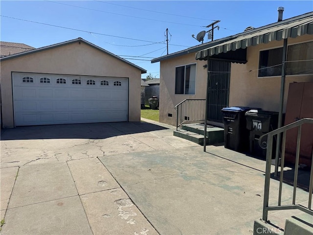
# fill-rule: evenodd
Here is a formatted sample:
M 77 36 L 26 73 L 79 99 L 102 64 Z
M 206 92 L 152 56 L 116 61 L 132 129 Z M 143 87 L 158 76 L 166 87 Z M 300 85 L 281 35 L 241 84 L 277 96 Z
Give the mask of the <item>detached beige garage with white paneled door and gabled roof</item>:
M 0 66 L 4 128 L 140 121 L 146 71 L 81 38 L 3 57 Z

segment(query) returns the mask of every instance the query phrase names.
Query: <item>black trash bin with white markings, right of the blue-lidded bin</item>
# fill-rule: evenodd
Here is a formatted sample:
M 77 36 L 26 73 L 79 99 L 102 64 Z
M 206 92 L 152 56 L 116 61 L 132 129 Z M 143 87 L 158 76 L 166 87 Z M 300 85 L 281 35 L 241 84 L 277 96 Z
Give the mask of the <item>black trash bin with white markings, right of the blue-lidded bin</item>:
M 277 129 L 278 112 L 270 112 L 264 110 L 249 110 L 246 116 L 246 129 L 249 131 L 249 152 L 253 155 L 266 157 L 266 148 L 259 145 L 259 139 L 262 135 Z M 267 142 L 267 137 L 262 139 L 262 142 Z M 265 145 L 266 146 L 266 145 Z M 276 139 L 273 139 L 273 154 L 275 158 Z

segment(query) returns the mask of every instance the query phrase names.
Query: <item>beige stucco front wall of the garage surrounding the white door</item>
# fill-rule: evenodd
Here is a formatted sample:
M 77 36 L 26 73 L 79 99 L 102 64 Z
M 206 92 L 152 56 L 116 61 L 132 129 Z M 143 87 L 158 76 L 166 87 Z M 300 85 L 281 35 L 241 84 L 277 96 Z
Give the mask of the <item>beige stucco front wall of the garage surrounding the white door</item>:
M 11 72 L 37 72 L 129 78 L 129 121 L 140 121 L 141 71 L 85 43 L 1 61 L 2 126 L 14 127 Z

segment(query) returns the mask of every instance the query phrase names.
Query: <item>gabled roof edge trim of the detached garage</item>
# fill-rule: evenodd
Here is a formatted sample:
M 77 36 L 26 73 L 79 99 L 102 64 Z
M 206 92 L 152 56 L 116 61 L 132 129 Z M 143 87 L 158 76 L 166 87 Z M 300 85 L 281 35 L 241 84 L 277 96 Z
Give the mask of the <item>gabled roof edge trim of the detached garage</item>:
M 89 43 L 88 41 L 82 39 L 82 38 L 77 38 L 77 39 L 73 39 L 73 40 L 69 40 L 69 41 L 66 41 L 66 42 L 63 42 L 63 43 L 57 43 L 57 44 L 53 44 L 53 45 L 50 45 L 50 46 L 46 46 L 46 47 L 40 47 L 40 48 L 37 48 L 37 49 L 32 49 L 32 50 L 28 50 L 28 51 L 24 51 L 24 52 L 20 52 L 20 53 L 17 53 L 17 54 L 14 54 L 14 55 L 8 55 L 8 56 L 5 56 L 5 57 L 2 57 L 0 58 L 1 61 L 3 60 L 8 60 L 8 59 L 12 59 L 12 58 L 16 58 L 16 57 L 19 57 L 19 56 L 23 56 L 23 55 L 28 55 L 28 54 L 32 54 L 32 53 L 36 53 L 36 52 L 39 52 L 39 51 L 43 51 L 43 50 L 47 50 L 47 49 L 52 49 L 52 48 L 55 48 L 55 47 L 62 47 L 62 46 L 65 46 L 65 45 L 68 45 L 68 44 L 72 44 L 72 43 L 77 43 L 77 42 L 81 42 L 81 43 L 85 43 L 87 45 L 89 45 L 90 47 L 93 47 L 97 50 L 100 50 L 101 52 L 104 52 L 108 55 L 111 55 L 112 57 L 122 61 L 122 62 L 125 62 L 126 64 L 129 64 L 130 66 L 133 66 L 134 68 L 138 69 L 141 71 L 141 73 L 146 73 L 147 71 L 139 66 L 136 66 L 135 64 L 117 56 L 117 55 L 114 55 L 113 53 L 111 53 L 110 51 L 107 51 L 101 47 L 98 47 L 92 43 Z

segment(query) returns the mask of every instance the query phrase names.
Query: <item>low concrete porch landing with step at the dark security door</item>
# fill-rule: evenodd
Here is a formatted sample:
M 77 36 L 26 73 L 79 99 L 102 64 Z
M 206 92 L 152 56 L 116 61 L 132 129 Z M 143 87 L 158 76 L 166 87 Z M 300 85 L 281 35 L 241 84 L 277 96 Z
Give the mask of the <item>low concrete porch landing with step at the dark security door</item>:
M 207 125 L 206 145 L 223 143 L 224 142 L 224 129 L 220 127 Z M 188 141 L 193 141 L 203 146 L 204 142 L 204 124 L 193 123 L 183 124 L 178 131 L 174 131 L 174 136 L 183 138 Z

